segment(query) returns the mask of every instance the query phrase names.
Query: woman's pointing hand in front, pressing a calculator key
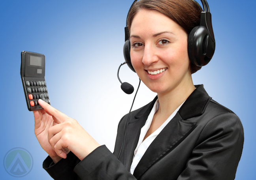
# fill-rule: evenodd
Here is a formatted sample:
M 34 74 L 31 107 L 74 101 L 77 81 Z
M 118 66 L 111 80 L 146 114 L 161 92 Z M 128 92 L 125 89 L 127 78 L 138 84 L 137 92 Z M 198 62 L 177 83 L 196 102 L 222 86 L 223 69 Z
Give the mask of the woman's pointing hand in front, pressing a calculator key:
M 42 100 L 38 102 L 53 119 L 54 126 L 49 126 L 48 128 L 48 141 L 53 150 L 55 150 L 56 155 L 66 158 L 66 149 L 69 149 L 82 160 L 100 146 L 76 120 Z

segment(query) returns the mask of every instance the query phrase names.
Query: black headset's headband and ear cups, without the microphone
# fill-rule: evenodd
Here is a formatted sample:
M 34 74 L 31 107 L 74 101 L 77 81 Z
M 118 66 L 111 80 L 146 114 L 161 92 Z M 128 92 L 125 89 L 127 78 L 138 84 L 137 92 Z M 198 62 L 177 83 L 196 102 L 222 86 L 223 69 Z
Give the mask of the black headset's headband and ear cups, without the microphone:
M 137 0 L 133 2 L 128 15 L 136 2 Z M 201 2 L 203 4 L 203 11 L 201 12 L 200 26 L 194 27 L 188 36 L 188 57 L 193 64 L 200 67 L 210 62 L 215 51 L 215 38 L 209 5 L 206 0 L 201 0 Z M 128 15 L 126 18 L 126 27 L 124 28 L 124 59 L 128 67 L 135 72 L 130 57 L 131 44 L 128 31 Z

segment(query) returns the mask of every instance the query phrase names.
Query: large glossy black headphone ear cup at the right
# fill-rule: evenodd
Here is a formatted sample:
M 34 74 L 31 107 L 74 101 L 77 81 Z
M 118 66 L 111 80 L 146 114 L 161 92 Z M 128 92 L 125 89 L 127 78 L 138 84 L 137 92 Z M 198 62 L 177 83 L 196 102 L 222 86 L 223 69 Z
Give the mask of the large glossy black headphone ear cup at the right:
M 204 26 L 196 26 L 188 36 L 188 57 L 196 66 L 205 66 L 213 57 L 215 42 Z

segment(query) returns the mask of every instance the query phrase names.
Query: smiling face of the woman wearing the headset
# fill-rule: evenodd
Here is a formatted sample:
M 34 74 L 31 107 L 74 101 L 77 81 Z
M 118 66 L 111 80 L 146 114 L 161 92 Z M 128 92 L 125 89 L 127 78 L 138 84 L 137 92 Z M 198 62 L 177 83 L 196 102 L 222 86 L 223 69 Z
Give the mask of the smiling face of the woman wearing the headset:
M 140 9 L 131 24 L 130 42 L 132 66 L 153 92 L 186 88 L 192 81 L 187 34 L 162 13 Z

